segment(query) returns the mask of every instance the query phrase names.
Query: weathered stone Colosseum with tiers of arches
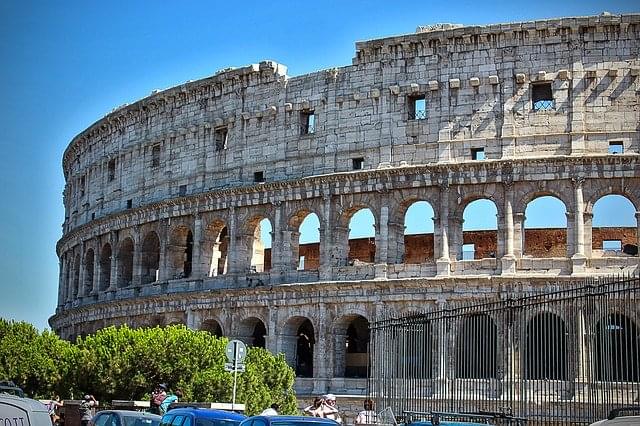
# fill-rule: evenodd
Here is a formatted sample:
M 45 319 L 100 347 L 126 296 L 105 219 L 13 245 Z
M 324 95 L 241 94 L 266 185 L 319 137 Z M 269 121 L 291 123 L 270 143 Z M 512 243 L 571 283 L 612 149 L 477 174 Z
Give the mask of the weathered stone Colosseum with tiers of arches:
M 76 136 L 52 328 L 185 324 L 284 353 L 300 395 L 362 395 L 377 318 L 637 271 L 637 225 L 595 226 L 594 206 L 640 208 L 639 14 L 355 50 L 295 77 L 225 69 Z M 565 227 L 526 226 L 541 197 Z M 468 229 L 479 201 L 495 226 Z M 415 206 L 429 232 L 406 231 Z

